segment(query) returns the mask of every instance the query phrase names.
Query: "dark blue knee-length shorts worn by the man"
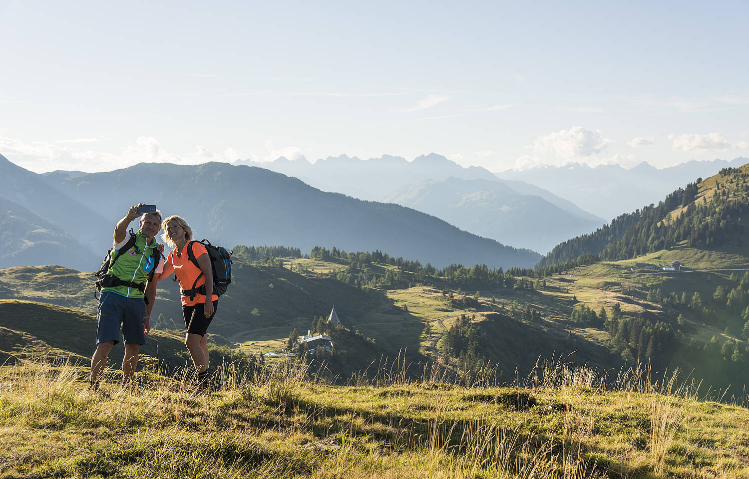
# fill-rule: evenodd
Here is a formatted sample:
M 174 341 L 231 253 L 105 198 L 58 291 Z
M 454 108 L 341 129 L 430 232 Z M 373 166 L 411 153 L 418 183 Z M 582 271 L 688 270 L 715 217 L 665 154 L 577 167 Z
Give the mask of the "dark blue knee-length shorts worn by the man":
M 126 298 L 112 291 L 104 291 L 97 308 L 99 329 L 96 342 L 120 342 L 120 325 L 125 344 L 145 344 L 145 301 L 143 298 Z

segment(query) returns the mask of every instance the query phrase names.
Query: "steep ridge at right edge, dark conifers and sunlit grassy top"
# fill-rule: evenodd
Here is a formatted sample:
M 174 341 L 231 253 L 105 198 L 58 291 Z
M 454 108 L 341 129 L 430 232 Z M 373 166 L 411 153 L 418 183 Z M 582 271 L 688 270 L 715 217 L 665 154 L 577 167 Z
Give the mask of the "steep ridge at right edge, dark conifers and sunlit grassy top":
M 548 269 L 568 261 L 626 260 L 672 248 L 679 242 L 698 248 L 741 246 L 745 219 L 749 217 L 748 177 L 745 165 L 724 168 L 704 182 L 698 178 L 658 205 L 620 215 L 591 234 L 562 242 L 536 268 Z

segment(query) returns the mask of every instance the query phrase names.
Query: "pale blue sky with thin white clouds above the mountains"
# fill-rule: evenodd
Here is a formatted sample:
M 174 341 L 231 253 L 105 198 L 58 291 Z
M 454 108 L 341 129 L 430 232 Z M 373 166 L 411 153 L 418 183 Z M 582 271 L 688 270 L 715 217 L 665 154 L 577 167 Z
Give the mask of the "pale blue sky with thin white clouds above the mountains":
M 747 0 L 0 0 L 0 154 L 36 172 L 733 159 L 748 20 Z

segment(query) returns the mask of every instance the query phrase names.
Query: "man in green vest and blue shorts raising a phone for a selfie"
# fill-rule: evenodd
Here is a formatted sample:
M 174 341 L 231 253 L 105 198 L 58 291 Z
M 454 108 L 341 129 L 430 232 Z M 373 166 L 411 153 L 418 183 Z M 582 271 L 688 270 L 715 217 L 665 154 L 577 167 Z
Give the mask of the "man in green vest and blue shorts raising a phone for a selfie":
M 151 272 L 161 272 L 160 245 L 156 235 L 161 231 L 161 213 L 145 213 L 134 234 L 127 226 L 138 218 L 138 208 L 130 207 L 127 215 L 115 226 L 114 249 L 106 275 L 97 284 L 102 287 L 97 317 L 97 348 L 91 358 L 91 386 L 97 388 L 102 370 L 106 367 L 109 351 L 120 341 L 120 325 L 124 336 L 125 356 L 122 360 L 122 380 L 130 385 L 138 366 L 138 352 L 151 330 L 151 308 L 156 297 L 156 281 L 148 281 Z M 129 248 L 124 248 L 130 246 Z M 155 269 L 155 271 L 154 271 Z

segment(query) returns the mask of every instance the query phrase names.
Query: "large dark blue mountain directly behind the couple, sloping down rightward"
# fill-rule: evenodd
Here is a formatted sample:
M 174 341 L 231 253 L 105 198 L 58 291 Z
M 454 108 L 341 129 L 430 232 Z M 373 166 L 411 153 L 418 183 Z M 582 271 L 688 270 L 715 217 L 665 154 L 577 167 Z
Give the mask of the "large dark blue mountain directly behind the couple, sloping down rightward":
M 435 266 L 454 262 L 530 266 L 540 258 L 533 251 L 477 237 L 424 213 L 321 192 L 297 178 L 244 165 L 142 163 L 66 177 L 58 187 L 79 201 L 115 198 L 91 204 L 110 225 L 130 204 L 154 203 L 164 215 L 184 216 L 196 237 L 225 245 L 293 245 L 303 251 L 315 245 L 349 251 L 380 249 Z M 102 238 L 101 248 L 108 242 L 109 234 Z

